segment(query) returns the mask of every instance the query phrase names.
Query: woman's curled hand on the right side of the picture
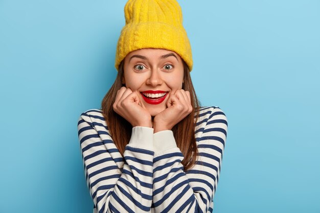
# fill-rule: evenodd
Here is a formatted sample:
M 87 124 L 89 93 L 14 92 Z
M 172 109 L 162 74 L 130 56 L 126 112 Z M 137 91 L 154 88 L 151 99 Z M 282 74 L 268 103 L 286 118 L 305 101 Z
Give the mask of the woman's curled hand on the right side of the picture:
M 190 92 L 183 89 L 171 93 L 167 101 L 167 107 L 164 111 L 154 117 L 154 133 L 171 130 L 174 125 L 184 119 L 193 107 L 191 106 Z

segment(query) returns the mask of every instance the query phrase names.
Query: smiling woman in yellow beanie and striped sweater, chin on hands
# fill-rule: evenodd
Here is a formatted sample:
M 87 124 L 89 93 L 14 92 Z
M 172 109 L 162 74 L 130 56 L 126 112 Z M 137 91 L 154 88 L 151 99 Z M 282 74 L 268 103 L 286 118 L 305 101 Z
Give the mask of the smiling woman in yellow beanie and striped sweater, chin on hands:
M 118 76 L 78 122 L 94 212 L 212 212 L 227 134 L 199 107 L 190 42 L 175 0 L 129 0 Z

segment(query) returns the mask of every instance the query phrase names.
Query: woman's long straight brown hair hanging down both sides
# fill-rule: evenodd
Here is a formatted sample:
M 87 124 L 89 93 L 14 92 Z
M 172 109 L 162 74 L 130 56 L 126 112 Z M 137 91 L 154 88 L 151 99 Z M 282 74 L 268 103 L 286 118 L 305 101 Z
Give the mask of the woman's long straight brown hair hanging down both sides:
M 186 171 L 195 164 L 198 153 L 195 139 L 195 126 L 199 116 L 200 103 L 197 99 L 191 81 L 189 67 L 184 61 L 183 64 L 184 83 L 182 84 L 182 89 L 190 92 L 191 105 L 193 106 L 193 109 L 189 115 L 187 115 L 172 128 L 172 132 L 177 147 L 184 155 L 184 160 L 182 160 L 181 163 L 182 165 L 184 165 L 184 170 Z M 122 155 L 124 153 L 126 145 L 129 143 L 132 131 L 131 124 L 113 110 L 113 103 L 115 103 L 117 91 L 123 86 L 123 78 L 124 60 L 119 65 L 119 72 L 115 82 L 103 98 L 101 104 L 102 113 L 108 125 L 110 135 Z

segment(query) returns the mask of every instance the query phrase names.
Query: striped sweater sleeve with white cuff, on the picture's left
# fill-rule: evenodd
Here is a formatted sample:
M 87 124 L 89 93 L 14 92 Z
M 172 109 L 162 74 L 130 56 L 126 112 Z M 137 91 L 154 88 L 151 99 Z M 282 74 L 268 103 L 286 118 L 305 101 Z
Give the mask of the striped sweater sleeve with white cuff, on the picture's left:
M 152 203 L 153 129 L 132 128 L 131 139 L 122 157 L 109 133 L 101 128 L 103 125 L 92 121 L 93 116 L 81 114 L 78 136 L 95 212 L 149 212 Z M 122 168 L 119 162 L 121 164 L 123 160 Z

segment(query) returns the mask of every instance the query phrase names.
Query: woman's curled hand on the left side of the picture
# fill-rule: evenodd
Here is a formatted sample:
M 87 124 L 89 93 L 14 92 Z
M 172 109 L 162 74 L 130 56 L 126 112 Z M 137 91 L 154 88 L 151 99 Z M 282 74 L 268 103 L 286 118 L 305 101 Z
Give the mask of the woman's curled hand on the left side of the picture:
M 132 127 L 152 127 L 150 113 L 142 108 L 136 91 L 130 88 L 121 87 L 113 103 L 113 110 L 127 120 Z

